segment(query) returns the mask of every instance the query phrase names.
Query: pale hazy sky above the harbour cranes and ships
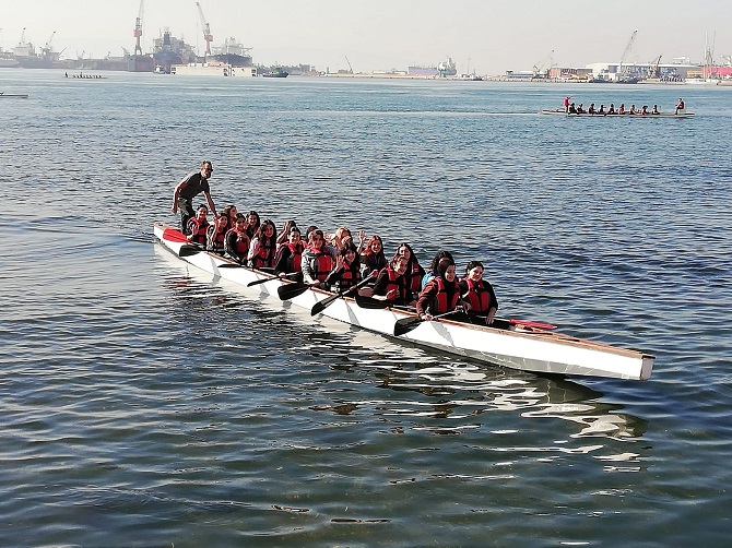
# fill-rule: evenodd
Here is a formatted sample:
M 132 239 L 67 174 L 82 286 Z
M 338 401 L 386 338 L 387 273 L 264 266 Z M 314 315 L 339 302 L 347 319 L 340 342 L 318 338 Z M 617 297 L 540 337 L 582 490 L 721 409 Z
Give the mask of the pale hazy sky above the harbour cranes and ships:
M 331 71 L 436 64 L 499 74 L 548 65 L 619 60 L 638 28 L 629 62 L 663 56 L 700 61 L 705 35 L 715 57 L 732 55 L 732 1 L 696 0 L 200 0 L 214 45 L 226 37 L 252 48 L 256 63 L 310 63 Z M 4 9 L 1 9 L 4 8 Z M 0 47 L 25 39 L 63 57 L 132 50 L 139 0 L 0 0 Z M 189 0 L 145 0 L 143 50 L 164 28 L 203 50 L 198 8 Z

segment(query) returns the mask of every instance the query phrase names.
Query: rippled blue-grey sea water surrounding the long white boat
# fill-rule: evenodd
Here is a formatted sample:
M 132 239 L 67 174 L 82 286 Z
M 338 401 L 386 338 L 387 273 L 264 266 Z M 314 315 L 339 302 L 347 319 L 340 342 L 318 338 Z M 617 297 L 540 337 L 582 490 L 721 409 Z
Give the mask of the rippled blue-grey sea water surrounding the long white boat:
M 732 87 L 1 70 L 3 546 L 722 546 Z M 589 103 L 690 120 L 543 117 Z M 543 378 L 250 300 L 153 242 L 217 204 L 486 264 L 657 356 Z

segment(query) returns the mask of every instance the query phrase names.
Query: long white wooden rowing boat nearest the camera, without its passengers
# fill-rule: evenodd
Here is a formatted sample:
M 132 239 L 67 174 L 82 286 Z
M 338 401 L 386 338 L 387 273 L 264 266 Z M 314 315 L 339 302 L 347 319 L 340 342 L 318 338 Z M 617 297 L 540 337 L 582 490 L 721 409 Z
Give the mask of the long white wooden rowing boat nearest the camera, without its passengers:
M 162 245 L 181 260 L 237 284 L 245 296 L 274 296 L 279 300 L 278 288 L 292 284 L 271 274 L 240 266 L 215 253 L 199 250 L 186 243 L 180 231 L 172 226 L 155 225 L 154 233 Z M 251 282 L 262 279 L 268 282 L 248 286 Z M 316 303 L 332 296 L 329 291 L 307 289 L 290 300 L 293 305 L 311 310 Z M 321 313 L 391 337 L 394 336 L 399 320 L 416 318 L 413 312 L 403 309 L 361 308 L 349 297 L 337 298 Z M 487 364 L 539 373 L 644 381 L 650 378 L 656 359 L 641 352 L 616 348 L 528 325 L 496 329 L 445 318 L 439 321 L 424 321 L 397 338 Z

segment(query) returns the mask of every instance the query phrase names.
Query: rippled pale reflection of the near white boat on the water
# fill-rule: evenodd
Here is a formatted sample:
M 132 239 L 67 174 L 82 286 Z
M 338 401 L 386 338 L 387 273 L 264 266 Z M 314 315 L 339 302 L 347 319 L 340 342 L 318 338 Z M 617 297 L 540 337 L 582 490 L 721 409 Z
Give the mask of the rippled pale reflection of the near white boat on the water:
M 308 311 L 297 307 L 283 312 L 282 305 L 271 298 L 223 293 L 210 274 L 187 266 L 161 246 L 155 246 L 155 252 L 168 267 L 164 285 L 176 294 L 176 299 L 186 303 L 190 313 L 209 309 L 210 314 L 216 314 L 219 307 L 238 308 L 247 314 L 248 322 L 267 332 L 269 344 L 275 347 L 291 344 L 292 329 L 295 327 L 297 354 L 323 360 L 334 373 L 347 376 L 347 383 L 341 381 L 337 388 L 328 385 L 327 398 L 331 403 L 308 406 L 312 412 L 339 416 L 373 414 L 387 424 L 415 419 L 409 427 L 403 424 L 392 427 L 392 432 L 401 434 L 414 430 L 461 436 L 491 428 L 488 425 L 494 419 L 486 415 L 501 413 L 510 414 L 511 422 L 513 418 L 523 417 L 559 419 L 576 426 L 562 443 L 587 438 L 636 441 L 646 431 L 646 420 L 623 413 L 621 405 L 602 401 L 601 392 L 579 382 L 560 376 L 535 376 L 497 366 L 456 361 L 334 320 L 312 319 Z M 235 286 L 229 285 L 228 289 L 233 290 Z M 404 397 L 405 394 L 409 397 Z M 315 397 L 322 400 L 322 394 Z M 491 428 L 489 431 L 507 437 L 521 430 Z M 592 453 L 601 461 L 639 458 L 635 453 L 600 454 L 603 449 L 603 444 L 597 444 L 521 448 L 521 451 Z

